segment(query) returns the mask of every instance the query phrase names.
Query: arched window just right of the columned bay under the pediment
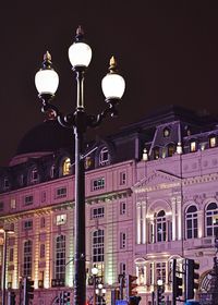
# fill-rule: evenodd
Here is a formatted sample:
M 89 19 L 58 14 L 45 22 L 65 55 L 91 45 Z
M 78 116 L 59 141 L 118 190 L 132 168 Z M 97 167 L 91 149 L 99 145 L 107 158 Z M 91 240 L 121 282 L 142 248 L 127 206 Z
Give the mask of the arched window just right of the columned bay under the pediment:
M 185 213 L 186 239 L 197 239 L 197 208 L 190 206 Z

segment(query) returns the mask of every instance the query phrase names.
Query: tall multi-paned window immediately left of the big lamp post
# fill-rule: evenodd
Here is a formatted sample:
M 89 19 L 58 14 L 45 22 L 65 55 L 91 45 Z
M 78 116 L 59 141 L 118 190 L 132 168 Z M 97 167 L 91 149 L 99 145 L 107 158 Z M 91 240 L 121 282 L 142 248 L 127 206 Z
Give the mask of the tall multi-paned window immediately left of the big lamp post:
M 56 279 L 65 279 L 65 235 L 56 239 Z

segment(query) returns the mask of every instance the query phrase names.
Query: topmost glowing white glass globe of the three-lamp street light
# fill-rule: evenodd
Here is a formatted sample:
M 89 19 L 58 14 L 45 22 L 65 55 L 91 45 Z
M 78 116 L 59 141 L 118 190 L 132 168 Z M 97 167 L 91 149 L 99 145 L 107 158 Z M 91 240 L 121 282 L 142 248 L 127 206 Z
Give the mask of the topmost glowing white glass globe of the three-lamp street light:
M 69 48 L 69 60 L 72 66 L 88 66 L 92 60 L 90 47 L 81 41 L 76 41 Z

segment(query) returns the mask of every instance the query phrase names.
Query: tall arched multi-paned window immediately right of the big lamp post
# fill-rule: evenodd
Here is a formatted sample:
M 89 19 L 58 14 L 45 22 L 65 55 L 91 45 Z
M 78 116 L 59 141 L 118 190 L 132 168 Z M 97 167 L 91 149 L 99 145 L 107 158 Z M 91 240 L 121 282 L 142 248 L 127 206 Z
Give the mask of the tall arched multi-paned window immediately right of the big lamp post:
M 104 230 L 97 230 L 93 232 L 93 261 L 104 261 Z

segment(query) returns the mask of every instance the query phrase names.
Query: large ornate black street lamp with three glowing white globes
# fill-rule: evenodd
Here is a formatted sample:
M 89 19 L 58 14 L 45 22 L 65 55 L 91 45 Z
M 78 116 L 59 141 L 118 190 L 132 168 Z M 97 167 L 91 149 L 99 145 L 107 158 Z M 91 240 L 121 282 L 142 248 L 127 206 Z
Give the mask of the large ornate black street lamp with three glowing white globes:
M 51 56 L 44 57 L 41 69 L 36 73 L 35 84 L 41 100 L 43 112 L 52 113 L 64 127 L 74 130 L 75 135 L 75 251 L 74 251 L 74 305 L 84 305 L 86 300 L 85 269 L 85 172 L 83 159 L 83 137 L 87 127 L 99 125 L 107 117 L 117 114 L 117 105 L 122 98 L 125 82 L 117 71 L 112 57 L 109 73 L 102 78 L 101 87 L 106 97 L 106 109 L 97 115 L 87 115 L 84 105 L 84 75 L 92 59 L 92 49 L 84 41 L 81 26 L 76 30 L 75 42 L 69 48 L 69 59 L 76 75 L 77 101 L 75 111 L 63 115 L 50 103 L 59 84 L 59 76 L 52 68 Z

